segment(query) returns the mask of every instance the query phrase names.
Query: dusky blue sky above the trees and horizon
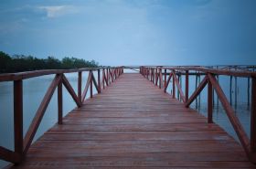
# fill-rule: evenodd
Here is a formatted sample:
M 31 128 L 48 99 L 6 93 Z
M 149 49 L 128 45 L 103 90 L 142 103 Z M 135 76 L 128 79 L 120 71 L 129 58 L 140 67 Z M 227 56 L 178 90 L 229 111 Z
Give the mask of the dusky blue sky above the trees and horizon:
M 256 64 L 255 0 L 1 0 L 0 50 L 116 65 Z

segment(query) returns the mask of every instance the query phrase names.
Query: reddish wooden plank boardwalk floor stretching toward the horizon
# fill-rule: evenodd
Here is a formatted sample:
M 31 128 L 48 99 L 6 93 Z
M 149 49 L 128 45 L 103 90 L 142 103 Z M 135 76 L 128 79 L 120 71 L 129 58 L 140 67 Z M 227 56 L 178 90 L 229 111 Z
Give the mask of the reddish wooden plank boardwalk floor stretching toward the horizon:
M 41 136 L 13 168 L 254 167 L 218 125 L 126 73 Z

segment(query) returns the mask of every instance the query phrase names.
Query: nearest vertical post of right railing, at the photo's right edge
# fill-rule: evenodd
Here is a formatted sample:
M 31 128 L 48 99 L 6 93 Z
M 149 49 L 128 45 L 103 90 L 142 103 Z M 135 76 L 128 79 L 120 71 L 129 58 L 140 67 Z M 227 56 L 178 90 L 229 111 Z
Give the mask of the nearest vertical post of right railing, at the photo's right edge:
M 251 153 L 256 153 L 256 77 L 251 77 Z

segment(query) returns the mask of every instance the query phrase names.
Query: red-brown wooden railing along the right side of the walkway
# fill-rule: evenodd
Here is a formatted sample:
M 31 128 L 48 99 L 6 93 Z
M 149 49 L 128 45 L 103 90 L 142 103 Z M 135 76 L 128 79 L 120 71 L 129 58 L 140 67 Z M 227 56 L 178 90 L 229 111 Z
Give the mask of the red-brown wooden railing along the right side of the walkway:
M 255 67 L 253 67 L 255 68 Z M 172 79 L 172 96 L 176 98 L 177 95 L 180 100 L 184 102 L 185 107 L 189 107 L 190 104 L 197 98 L 200 92 L 208 85 L 208 122 L 213 122 L 213 90 L 217 93 L 219 101 L 222 103 L 224 110 L 226 111 L 229 121 L 238 135 L 240 143 L 252 163 L 256 163 L 256 72 L 249 70 L 233 70 L 233 69 L 209 69 L 204 67 L 140 67 L 140 73 L 144 78 L 151 80 L 160 89 L 166 92 L 168 85 Z M 197 89 L 191 96 L 188 96 L 188 84 L 189 75 L 202 74 L 204 79 L 200 81 Z M 179 75 L 177 77 L 177 75 Z M 183 92 L 180 85 L 179 77 L 185 76 L 185 92 Z M 229 103 L 226 95 L 219 85 L 219 81 L 216 79 L 219 75 L 244 77 L 251 79 L 251 139 L 244 131 L 240 120 L 235 115 L 235 111 Z M 163 79 L 164 77 L 164 79 Z

